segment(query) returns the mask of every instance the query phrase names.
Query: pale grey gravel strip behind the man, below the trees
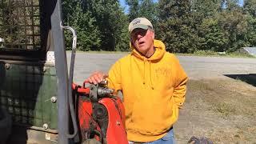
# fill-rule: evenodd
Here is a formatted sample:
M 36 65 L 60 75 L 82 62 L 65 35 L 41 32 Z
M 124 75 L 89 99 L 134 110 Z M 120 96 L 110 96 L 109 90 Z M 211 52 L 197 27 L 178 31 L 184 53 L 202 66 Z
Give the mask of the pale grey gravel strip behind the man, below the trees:
M 74 82 L 82 83 L 95 70 L 107 72 L 126 54 L 91 54 L 78 52 L 74 66 Z M 67 53 L 70 61 L 70 52 Z M 178 56 L 190 79 L 227 78 L 225 74 L 255 74 L 256 58 L 220 58 Z

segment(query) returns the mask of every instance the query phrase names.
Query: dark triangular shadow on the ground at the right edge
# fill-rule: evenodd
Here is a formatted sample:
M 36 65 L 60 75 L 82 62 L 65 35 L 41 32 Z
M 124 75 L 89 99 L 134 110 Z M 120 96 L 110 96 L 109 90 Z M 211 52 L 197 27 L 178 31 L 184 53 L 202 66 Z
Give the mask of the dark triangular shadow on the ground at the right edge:
M 224 74 L 226 77 L 234 78 L 246 82 L 252 86 L 256 86 L 256 74 Z

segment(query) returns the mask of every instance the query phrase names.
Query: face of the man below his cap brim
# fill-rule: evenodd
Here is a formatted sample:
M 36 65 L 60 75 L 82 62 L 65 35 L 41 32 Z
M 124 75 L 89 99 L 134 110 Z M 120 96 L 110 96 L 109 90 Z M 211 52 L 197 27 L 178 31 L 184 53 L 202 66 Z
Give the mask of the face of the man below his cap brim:
M 135 48 L 147 56 L 148 53 L 154 51 L 154 32 L 152 30 L 135 29 L 130 34 L 132 43 Z

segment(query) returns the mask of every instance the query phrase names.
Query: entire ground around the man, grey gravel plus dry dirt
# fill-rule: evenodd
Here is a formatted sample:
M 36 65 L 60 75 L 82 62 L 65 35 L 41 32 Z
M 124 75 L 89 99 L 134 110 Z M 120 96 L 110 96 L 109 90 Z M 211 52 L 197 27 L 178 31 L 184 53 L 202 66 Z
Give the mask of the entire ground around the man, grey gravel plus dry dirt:
M 77 53 L 74 82 L 82 84 L 94 70 L 107 72 L 124 55 Z M 256 142 L 256 58 L 178 59 L 190 81 L 174 124 L 177 143 L 186 144 L 191 136 L 223 144 Z

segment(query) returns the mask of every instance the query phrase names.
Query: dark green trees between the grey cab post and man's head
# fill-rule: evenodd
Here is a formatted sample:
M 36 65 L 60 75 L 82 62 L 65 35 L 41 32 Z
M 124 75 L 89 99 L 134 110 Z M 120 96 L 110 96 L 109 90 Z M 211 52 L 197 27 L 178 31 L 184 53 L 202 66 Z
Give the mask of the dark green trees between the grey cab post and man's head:
M 79 50 L 128 49 L 122 47 L 129 42 L 127 17 L 118 1 L 65 0 L 62 5 L 64 22 L 77 30 Z

